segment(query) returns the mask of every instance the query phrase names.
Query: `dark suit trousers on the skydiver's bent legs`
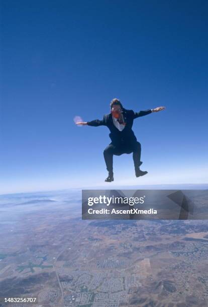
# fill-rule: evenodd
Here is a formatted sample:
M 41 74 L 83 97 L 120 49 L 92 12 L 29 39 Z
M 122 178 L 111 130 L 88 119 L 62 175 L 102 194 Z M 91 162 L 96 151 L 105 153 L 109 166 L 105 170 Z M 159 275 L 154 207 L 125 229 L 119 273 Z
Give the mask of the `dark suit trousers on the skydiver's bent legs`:
M 131 154 L 133 152 L 133 161 L 135 171 L 139 169 L 141 159 L 141 144 L 136 141 L 131 146 L 125 144 L 114 145 L 109 144 L 103 151 L 103 156 L 106 162 L 107 171 L 113 173 L 113 156 L 121 156 L 123 154 Z

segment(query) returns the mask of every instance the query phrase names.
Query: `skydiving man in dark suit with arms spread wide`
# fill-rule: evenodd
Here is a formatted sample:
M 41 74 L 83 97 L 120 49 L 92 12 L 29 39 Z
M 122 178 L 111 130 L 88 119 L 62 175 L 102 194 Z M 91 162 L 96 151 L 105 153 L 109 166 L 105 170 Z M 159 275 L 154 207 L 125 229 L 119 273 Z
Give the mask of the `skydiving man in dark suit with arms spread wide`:
M 111 138 L 111 143 L 103 151 L 107 171 L 109 172 L 109 176 L 105 181 L 114 181 L 113 155 L 120 156 L 123 154 L 131 154 L 132 152 L 136 177 L 146 175 L 148 172 L 140 170 L 142 164 L 140 161 L 141 144 L 137 141 L 132 130 L 133 121 L 137 117 L 164 110 L 165 107 L 134 112 L 133 110 L 125 109 L 121 101 L 117 98 L 111 101 L 110 106 L 111 113 L 104 115 L 102 120 L 95 119 L 92 121 L 76 123 L 77 125 L 88 125 L 94 127 L 107 126 L 110 129 L 111 133 L 109 136 Z

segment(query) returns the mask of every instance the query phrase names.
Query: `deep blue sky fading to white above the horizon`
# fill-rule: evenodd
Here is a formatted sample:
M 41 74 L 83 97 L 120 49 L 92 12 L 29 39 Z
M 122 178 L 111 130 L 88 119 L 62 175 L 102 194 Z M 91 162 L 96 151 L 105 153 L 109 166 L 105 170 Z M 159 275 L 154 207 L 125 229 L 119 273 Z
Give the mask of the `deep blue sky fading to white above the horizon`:
M 115 184 L 207 183 L 206 1 L 1 2 L 0 193 L 96 187 L 107 176 L 110 101 L 135 111 L 142 144 L 115 157 Z M 109 184 L 108 187 L 114 184 Z

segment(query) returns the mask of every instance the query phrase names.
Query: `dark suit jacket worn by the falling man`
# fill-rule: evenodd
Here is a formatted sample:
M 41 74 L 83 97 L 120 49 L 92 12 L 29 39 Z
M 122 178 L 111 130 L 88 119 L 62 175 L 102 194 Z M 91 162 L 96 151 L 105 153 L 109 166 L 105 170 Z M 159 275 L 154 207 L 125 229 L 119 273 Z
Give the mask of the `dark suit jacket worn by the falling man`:
M 103 116 L 102 120 L 95 119 L 88 121 L 87 125 L 89 126 L 107 126 L 111 133 L 109 134 L 112 144 L 114 145 L 134 145 L 137 141 L 137 138 L 132 130 L 133 121 L 135 118 L 150 114 L 151 110 L 145 110 L 140 112 L 134 112 L 133 110 L 126 110 L 123 108 L 124 120 L 126 122 L 125 128 L 120 131 L 113 122 L 112 114 L 106 114 Z

